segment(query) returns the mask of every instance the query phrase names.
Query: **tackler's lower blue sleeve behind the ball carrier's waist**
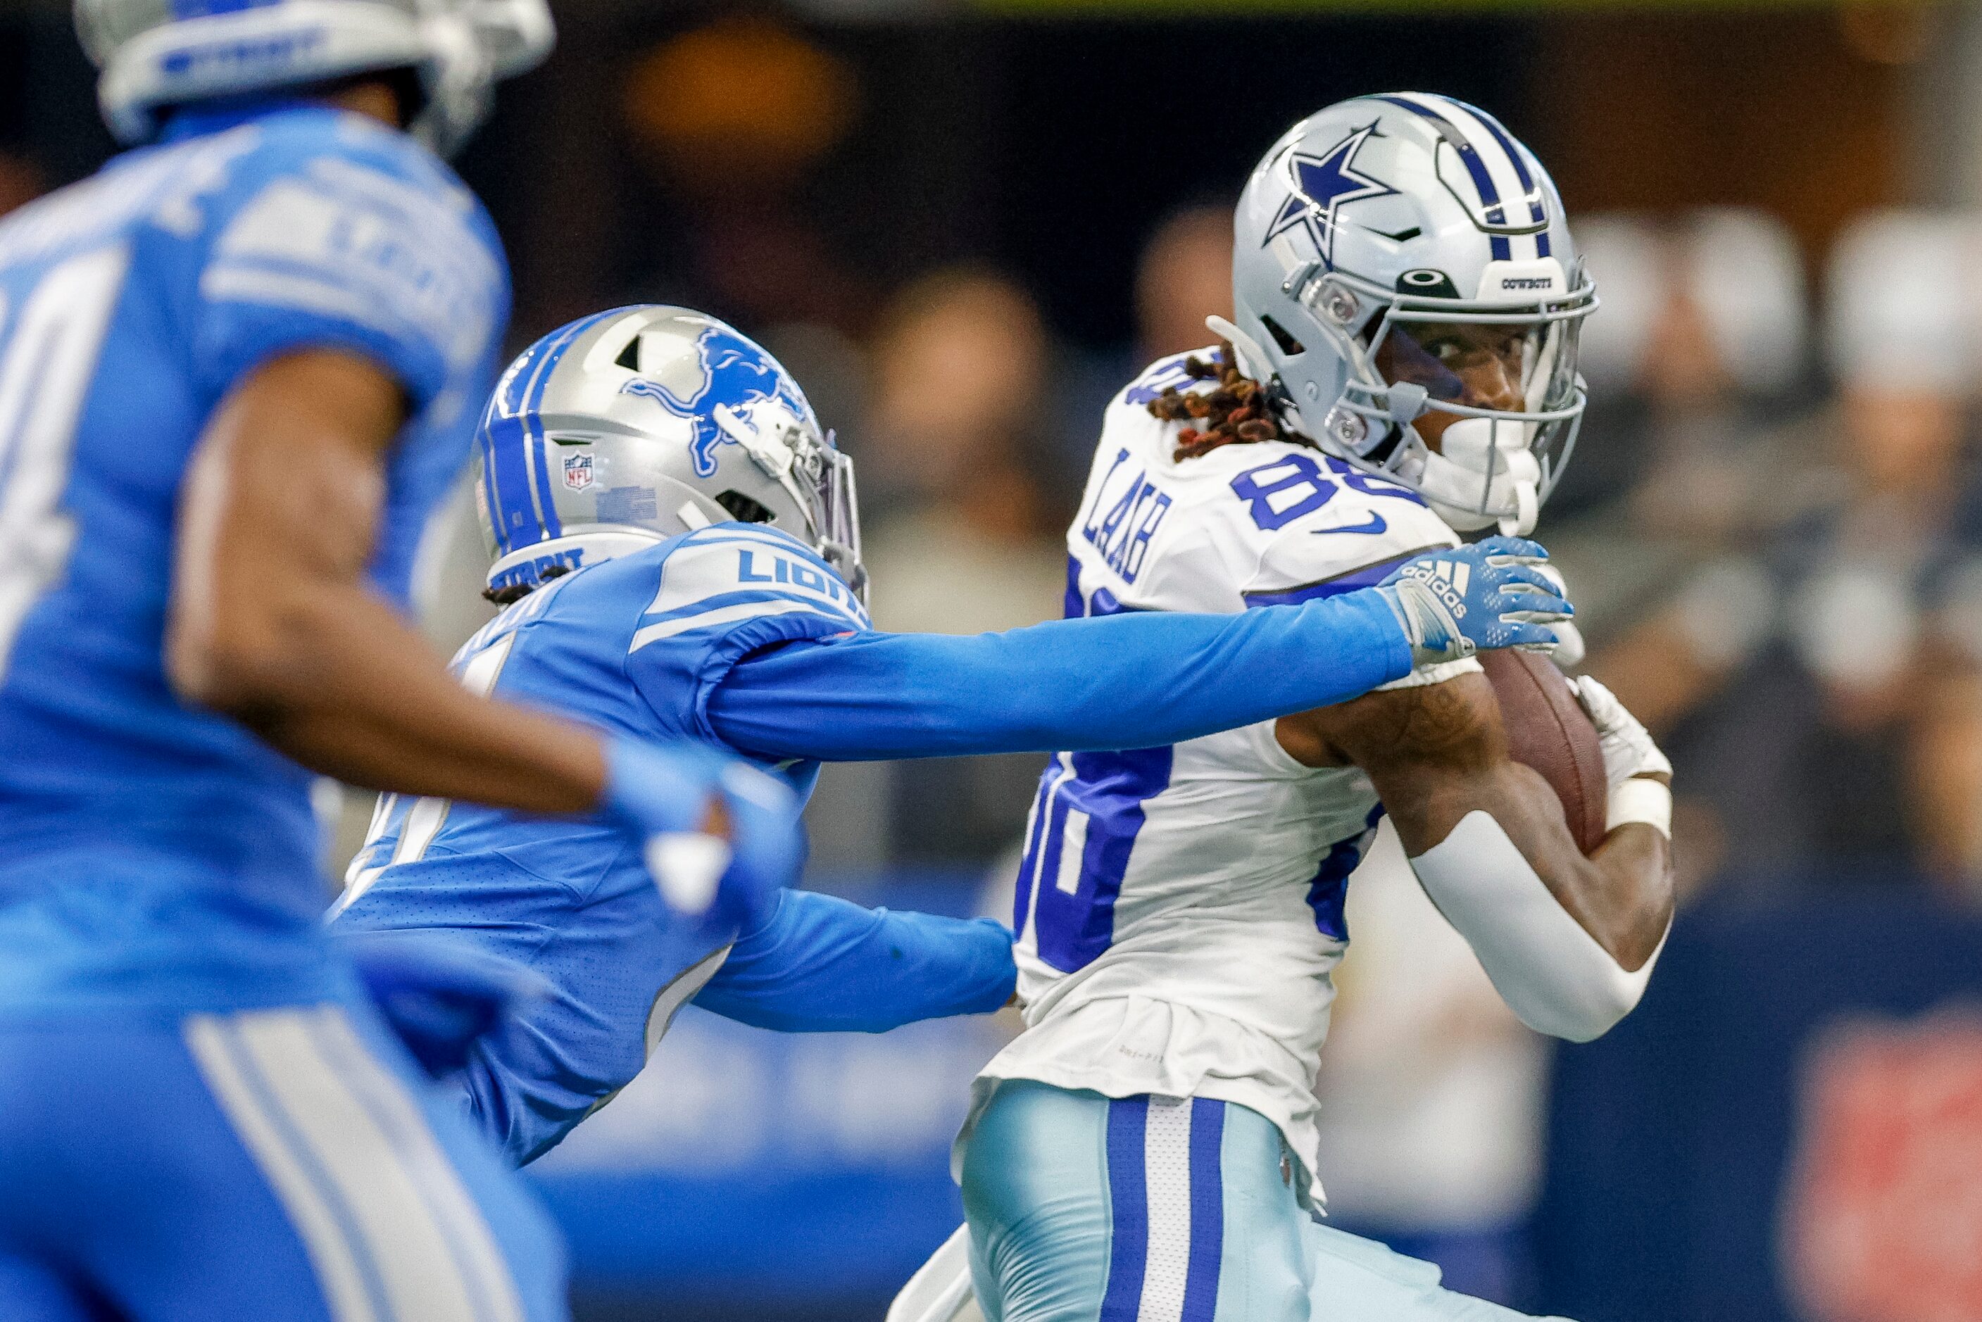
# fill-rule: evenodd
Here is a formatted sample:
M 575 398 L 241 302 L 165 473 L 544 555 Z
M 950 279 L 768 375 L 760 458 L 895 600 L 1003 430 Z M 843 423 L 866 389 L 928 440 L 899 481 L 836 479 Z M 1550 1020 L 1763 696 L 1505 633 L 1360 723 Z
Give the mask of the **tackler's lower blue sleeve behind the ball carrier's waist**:
M 1011 932 L 989 918 L 890 914 L 785 890 L 696 1005 L 779 1033 L 884 1033 L 989 1015 L 1017 979 Z

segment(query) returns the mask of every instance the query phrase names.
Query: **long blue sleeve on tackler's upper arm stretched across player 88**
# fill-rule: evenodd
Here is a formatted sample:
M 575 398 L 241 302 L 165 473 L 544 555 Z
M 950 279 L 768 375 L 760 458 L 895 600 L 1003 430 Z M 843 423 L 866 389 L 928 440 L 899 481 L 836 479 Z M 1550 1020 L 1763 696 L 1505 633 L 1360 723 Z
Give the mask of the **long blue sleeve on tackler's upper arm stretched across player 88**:
M 708 717 L 767 757 L 1134 749 L 1348 702 L 1409 672 L 1403 626 L 1364 591 L 1243 614 L 793 642 L 737 662 Z

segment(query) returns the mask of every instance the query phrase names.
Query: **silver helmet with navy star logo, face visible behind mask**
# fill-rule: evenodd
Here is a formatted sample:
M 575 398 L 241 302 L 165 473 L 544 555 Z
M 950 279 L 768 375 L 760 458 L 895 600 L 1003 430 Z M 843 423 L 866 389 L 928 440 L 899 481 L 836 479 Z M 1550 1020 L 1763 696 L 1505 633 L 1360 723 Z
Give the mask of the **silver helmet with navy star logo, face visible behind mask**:
M 1213 327 L 1292 430 L 1453 527 L 1534 527 L 1576 444 L 1597 301 L 1526 147 L 1451 97 L 1342 101 L 1259 163 L 1235 240 L 1237 325 Z

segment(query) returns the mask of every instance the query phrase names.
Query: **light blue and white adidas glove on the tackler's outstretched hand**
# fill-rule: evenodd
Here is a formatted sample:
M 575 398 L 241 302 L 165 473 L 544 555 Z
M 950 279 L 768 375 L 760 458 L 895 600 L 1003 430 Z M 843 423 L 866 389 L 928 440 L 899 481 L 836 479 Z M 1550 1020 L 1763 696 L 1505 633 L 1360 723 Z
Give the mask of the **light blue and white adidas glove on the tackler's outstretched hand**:
M 1542 573 L 1548 551 L 1522 537 L 1427 551 L 1397 567 L 1377 593 L 1411 640 L 1413 666 L 1435 666 L 1494 648 L 1552 652 L 1552 624 L 1576 614 Z

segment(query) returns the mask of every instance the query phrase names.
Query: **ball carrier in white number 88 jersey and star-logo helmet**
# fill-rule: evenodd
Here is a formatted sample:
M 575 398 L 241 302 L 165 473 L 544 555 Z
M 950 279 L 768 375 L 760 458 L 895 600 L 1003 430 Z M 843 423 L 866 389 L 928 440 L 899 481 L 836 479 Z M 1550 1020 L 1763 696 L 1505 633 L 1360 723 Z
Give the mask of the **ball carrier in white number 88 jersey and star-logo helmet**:
M 1453 529 L 1534 525 L 1596 297 L 1554 184 L 1498 123 L 1403 93 L 1296 125 L 1239 202 L 1233 285 L 1225 343 L 1157 361 L 1106 412 L 1070 612 L 1328 601 Z M 1124 519 L 1150 527 L 1136 559 L 1112 555 Z M 959 1138 L 967 1235 L 898 1318 L 963 1316 L 965 1261 L 993 1322 L 1512 1316 L 1310 1215 L 1344 886 L 1381 813 L 1542 1033 L 1623 1017 L 1671 920 L 1669 767 L 1645 731 L 1584 682 L 1611 783 L 1586 858 L 1479 670 L 1052 761 L 1017 886 L 1029 1027 Z

